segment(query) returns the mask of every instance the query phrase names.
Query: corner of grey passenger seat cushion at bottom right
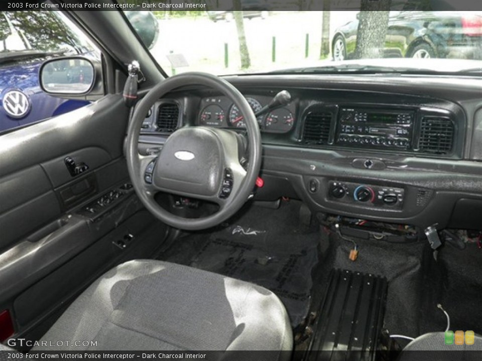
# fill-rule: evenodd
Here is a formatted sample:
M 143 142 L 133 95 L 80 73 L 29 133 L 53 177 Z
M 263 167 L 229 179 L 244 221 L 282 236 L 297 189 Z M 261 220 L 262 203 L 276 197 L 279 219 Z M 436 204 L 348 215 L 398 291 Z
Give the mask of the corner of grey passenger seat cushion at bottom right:
M 411 351 L 444 351 L 444 352 L 411 352 Z M 452 352 L 445 351 L 473 351 L 465 355 L 458 355 Z M 425 333 L 404 347 L 400 353 L 399 361 L 413 361 L 420 359 L 423 361 L 428 360 L 452 360 L 456 357 L 459 360 L 480 359 L 480 351 L 482 351 L 482 337 L 475 334 L 473 345 L 446 345 L 444 332 L 430 332 Z M 433 357 L 431 357 L 432 355 Z M 472 358 L 475 357 L 475 358 Z

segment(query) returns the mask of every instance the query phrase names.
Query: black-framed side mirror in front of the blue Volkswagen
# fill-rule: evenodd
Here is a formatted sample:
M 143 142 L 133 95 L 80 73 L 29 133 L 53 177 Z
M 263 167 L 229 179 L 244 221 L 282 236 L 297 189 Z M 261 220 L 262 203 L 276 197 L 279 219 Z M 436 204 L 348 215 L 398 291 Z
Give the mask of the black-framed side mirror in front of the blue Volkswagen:
M 46 60 L 39 70 L 42 90 L 51 95 L 79 98 L 103 94 L 100 62 L 81 56 Z

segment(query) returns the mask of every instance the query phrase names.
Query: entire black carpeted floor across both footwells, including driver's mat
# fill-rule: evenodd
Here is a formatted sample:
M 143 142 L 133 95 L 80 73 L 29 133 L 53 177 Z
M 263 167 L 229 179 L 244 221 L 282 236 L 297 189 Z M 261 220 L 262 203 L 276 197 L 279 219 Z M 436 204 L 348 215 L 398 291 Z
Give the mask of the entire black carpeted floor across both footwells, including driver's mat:
M 417 337 L 443 331 L 451 316 L 452 330 L 482 333 L 482 250 L 469 244 L 463 251 L 445 245 L 438 260 L 428 242 L 397 244 L 358 240 L 299 224 L 301 202 L 282 202 L 280 209 L 247 206 L 216 229 L 180 237 L 161 259 L 254 282 L 275 292 L 285 304 L 293 327 L 317 309 L 332 268 L 372 273 L 389 281 L 385 327 L 391 334 Z M 400 340 L 400 343 L 406 344 Z

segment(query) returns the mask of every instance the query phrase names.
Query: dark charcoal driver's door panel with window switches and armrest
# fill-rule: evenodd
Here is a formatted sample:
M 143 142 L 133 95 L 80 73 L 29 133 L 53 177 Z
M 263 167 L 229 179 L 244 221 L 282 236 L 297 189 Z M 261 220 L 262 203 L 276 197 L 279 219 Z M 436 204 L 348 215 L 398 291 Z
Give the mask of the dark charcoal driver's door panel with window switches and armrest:
M 108 239 L 116 228 L 127 233 L 154 222 L 149 214 L 135 216 L 143 207 L 134 192 L 95 223 L 79 212 L 84 204 L 129 182 L 123 155 L 128 117 L 122 97 L 108 95 L 0 136 L 0 312 L 9 311 L 17 336 L 123 256 Z M 72 174 L 66 157 L 87 169 Z M 99 247 L 102 239 L 107 241 Z M 94 246 L 97 252 L 87 251 Z M 76 282 L 61 284 L 67 276 Z M 32 292 L 40 307 L 26 301 Z

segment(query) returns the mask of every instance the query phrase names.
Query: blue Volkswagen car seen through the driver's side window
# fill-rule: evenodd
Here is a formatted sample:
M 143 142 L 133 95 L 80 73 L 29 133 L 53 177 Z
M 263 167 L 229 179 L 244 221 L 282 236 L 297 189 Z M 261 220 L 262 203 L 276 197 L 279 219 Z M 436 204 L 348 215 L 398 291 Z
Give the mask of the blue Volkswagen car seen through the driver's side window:
M 46 59 L 97 56 L 68 24 L 59 12 L 0 12 L 0 132 L 89 103 L 52 97 L 39 85 L 39 68 Z

